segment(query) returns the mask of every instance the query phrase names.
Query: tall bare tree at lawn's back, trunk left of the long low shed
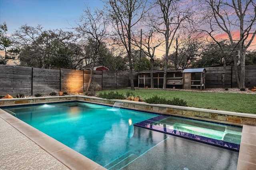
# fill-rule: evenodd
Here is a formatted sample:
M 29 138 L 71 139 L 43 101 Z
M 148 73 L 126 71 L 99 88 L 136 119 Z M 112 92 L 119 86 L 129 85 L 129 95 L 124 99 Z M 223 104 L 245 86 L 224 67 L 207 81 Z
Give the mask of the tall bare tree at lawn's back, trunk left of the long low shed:
M 113 27 L 124 45 L 129 58 L 130 85 L 134 90 L 132 76 L 132 28 L 141 20 L 147 0 L 108 0 L 106 7 L 113 21 Z

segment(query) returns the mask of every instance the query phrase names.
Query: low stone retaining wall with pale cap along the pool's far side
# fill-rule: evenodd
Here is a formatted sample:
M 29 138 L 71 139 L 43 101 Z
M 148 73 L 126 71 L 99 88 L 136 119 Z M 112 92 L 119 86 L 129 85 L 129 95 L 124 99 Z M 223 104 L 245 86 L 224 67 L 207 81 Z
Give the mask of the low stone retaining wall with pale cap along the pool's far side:
M 232 125 L 256 125 L 256 115 L 248 113 L 238 113 L 231 111 L 219 111 L 211 109 L 201 109 L 196 107 L 171 106 L 160 104 L 147 104 L 144 102 L 133 102 L 127 100 L 106 100 L 102 98 L 89 96 L 52 96 L 38 98 L 15 98 L 0 99 L 1 106 L 16 106 L 34 103 L 62 102 L 62 101 L 86 101 L 96 104 L 113 106 L 115 102 L 123 102 L 122 107 L 136 109 L 140 111 L 149 111 L 160 114 L 176 115 L 181 117 L 195 118 L 205 121 L 214 121 L 218 123 L 227 123 Z

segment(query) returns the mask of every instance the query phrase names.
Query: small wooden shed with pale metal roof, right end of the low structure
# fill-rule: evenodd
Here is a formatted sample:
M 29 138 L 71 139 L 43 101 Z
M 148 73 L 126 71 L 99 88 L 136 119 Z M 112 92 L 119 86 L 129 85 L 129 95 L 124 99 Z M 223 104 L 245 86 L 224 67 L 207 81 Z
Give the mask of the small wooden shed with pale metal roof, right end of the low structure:
M 205 68 L 189 68 L 183 70 L 183 89 L 205 89 Z

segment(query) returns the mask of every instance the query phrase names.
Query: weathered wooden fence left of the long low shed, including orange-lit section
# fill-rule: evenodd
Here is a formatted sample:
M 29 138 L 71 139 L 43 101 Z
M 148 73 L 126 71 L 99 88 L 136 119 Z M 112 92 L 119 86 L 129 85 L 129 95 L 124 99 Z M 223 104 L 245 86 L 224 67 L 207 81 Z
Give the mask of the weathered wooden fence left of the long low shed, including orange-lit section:
M 136 74 L 135 74 L 136 76 Z M 50 92 L 83 92 L 90 70 L 59 70 L 0 65 L 0 96 Z M 102 90 L 129 87 L 129 72 L 93 71 L 92 81 Z M 135 80 L 137 77 L 135 78 Z

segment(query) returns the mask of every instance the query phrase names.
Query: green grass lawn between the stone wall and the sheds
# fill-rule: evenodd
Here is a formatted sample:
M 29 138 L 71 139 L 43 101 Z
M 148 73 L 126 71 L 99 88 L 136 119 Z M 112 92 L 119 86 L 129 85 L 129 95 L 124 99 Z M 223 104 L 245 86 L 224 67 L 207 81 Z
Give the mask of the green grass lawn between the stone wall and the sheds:
M 119 92 L 124 95 L 126 95 L 126 92 L 132 92 L 135 96 L 140 96 L 142 99 L 147 99 L 153 96 L 159 96 L 166 99 L 173 99 L 176 97 L 187 101 L 189 107 L 212 108 L 224 111 L 256 114 L 256 95 L 254 94 L 185 92 L 159 89 L 136 89 L 132 91 L 129 88 L 102 90 L 98 93 L 111 91 Z

